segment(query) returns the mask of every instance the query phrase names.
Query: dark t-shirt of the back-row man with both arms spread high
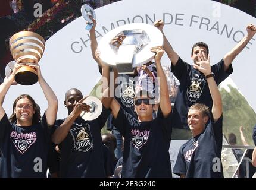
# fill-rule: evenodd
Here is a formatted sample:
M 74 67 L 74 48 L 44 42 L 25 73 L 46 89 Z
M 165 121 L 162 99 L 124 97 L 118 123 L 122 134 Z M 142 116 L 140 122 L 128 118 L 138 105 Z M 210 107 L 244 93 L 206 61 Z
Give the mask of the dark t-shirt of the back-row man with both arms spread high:
M 189 129 L 187 122 L 189 107 L 195 103 L 203 103 L 211 110 L 213 106 L 209 87 L 204 74 L 180 58 L 176 66 L 171 65 L 171 72 L 180 81 L 179 91 L 173 109 L 172 126 L 174 128 Z M 211 72 L 214 73 L 214 80 L 219 85 L 232 74 L 233 68 L 230 65 L 225 72 L 224 60 L 221 59 L 220 62 L 211 66 Z

